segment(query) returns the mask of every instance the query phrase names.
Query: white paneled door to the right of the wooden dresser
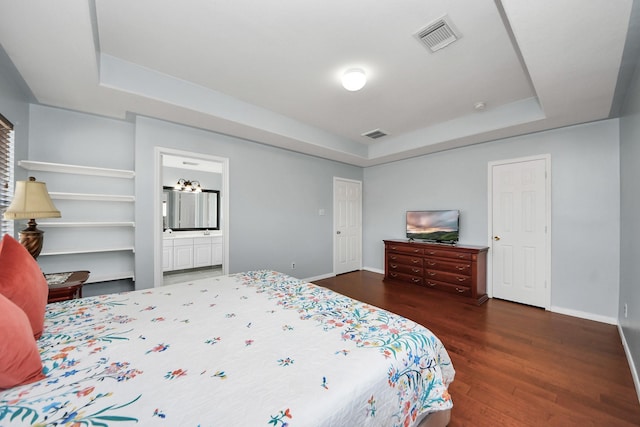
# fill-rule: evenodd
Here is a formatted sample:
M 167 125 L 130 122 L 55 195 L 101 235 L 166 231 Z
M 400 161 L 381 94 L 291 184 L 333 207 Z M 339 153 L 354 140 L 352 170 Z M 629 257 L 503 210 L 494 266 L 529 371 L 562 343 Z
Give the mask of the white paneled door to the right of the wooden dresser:
M 492 296 L 550 308 L 549 157 L 490 168 Z

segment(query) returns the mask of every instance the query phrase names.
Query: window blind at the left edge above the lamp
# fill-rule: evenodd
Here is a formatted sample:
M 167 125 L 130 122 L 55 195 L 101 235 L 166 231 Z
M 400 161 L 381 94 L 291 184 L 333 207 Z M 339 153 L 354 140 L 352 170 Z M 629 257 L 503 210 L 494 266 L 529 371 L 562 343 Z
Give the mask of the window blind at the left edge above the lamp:
M 13 221 L 5 221 L 3 213 L 13 196 L 13 124 L 0 114 L 0 238 L 13 236 Z

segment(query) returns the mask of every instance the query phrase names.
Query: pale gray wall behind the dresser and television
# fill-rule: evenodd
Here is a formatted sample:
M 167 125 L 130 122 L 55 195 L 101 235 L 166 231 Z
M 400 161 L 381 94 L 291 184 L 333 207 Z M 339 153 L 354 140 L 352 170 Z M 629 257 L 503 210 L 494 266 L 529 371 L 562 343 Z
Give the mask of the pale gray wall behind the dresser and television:
M 367 168 L 364 265 L 383 269 L 382 240 L 404 237 L 411 209 L 460 209 L 460 243 L 487 245 L 488 162 L 549 153 L 552 309 L 615 322 L 618 139 L 618 120 L 608 120 Z

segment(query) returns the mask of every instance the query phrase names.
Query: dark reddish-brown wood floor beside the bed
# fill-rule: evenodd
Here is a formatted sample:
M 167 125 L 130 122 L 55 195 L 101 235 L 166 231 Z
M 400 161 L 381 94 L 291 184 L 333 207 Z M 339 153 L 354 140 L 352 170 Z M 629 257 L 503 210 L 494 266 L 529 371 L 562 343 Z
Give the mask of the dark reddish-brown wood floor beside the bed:
M 356 271 L 314 283 L 429 328 L 456 377 L 449 426 L 640 426 L 616 326 L 490 299 L 477 307 Z

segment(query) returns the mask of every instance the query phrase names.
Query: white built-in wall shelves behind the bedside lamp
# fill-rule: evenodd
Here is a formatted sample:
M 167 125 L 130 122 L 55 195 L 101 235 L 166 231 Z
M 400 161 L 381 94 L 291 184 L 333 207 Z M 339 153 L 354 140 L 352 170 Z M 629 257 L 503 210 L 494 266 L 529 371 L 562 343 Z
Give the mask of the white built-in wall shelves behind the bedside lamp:
M 135 222 L 129 220 L 133 219 L 135 196 L 110 194 L 133 193 L 134 171 L 32 160 L 21 160 L 18 165 L 41 172 L 39 180 L 47 182 L 62 213 L 61 220 L 38 222 L 46 233 L 38 258 L 43 271 L 89 270 L 87 283 L 135 279 Z M 89 191 L 99 188 L 101 192 L 68 192 L 82 190 L 78 184 L 84 179 L 78 175 L 93 177 Z

